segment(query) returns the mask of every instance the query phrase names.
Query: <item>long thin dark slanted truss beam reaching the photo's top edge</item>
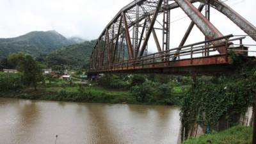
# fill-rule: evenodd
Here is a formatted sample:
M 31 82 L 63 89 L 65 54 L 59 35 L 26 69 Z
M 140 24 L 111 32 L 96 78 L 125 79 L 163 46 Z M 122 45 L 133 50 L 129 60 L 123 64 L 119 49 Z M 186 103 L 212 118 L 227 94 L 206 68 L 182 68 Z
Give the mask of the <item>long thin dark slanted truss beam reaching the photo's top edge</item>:
M 152 22 L 150 22 L 150 26 L 148 28 L 148 33 L 147 33 L 147 36 L 145 37 L 145 40 L 144 40 L 143 45 L 141 47 L 141 51 L 140 51 L 140 55 L 139 56 L 143 56 L 143 53 L 144 53 L 144 51 L 146 49 L 146 46 L 148 44 L 148 40 L 149 40 L 150 34 L 151 34 L 151 32 L 152 32 L 152 30 L 154 28 L 154 24 L 156 22 L 156 18 L 157 18 L 157 15 L 159 13 L 159 9 L 161 8 L 162 3 L 163 3 L 163 0 L 159 0 L 158 1 L 156 10 L 155 10 L 154 15 L 153 15 Z

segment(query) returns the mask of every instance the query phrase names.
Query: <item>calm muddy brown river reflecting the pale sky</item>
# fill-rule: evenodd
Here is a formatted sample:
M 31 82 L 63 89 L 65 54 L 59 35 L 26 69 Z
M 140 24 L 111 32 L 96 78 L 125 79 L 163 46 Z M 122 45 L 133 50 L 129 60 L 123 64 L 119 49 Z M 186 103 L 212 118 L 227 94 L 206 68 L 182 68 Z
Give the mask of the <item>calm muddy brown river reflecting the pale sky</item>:
M 1 144 L 176 144 L 179 107 L 0 98 Z

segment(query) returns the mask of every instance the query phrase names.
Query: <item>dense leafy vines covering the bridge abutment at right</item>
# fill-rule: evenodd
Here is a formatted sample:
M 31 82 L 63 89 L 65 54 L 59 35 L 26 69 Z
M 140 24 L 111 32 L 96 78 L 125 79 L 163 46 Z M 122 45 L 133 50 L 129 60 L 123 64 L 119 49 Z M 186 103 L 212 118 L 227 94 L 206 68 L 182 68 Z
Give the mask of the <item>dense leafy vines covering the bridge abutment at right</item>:
M 225 120 L 225 128 L 237 125 L 239 116 L 255 104 L 256 61 L 241 57 L 234 60 L 235 72 L 208 79 L 197 77 L 185 95 L 180 114 L 186 136 L 193 124 L 214 129 L 219 120 Z

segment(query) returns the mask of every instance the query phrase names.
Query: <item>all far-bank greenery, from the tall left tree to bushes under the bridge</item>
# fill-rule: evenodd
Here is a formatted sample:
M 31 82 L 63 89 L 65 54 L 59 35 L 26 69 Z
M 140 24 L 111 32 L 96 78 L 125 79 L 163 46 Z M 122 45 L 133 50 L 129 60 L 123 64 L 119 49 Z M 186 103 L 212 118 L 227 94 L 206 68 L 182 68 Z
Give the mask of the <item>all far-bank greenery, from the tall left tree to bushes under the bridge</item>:
M 10 86 L 10 88 L 3 90 L 2 97 L 76 102 L 180 104 L 180 95 L 187 90 L 181 84 L 189 81 L 188 77 L 167 75 L 106 74 L 99 79 L 99 83 L 90 86 L 81 84 L 83 79 L 79 78 L 80 70 L 72 75 L 72 81 L 63 81 L 50 75 L 42 76 L 39 68 L 40 63 L 29 54 L 11 54 L 7 62 L 12 63 L 19 70 L 19 73 L 3 73 L 3 80 L 13 77 L 13 81 L 19 78 L 21 83 L 16 88 Z M 5 83 L 9 83 L 9 81 L 1 81 L 2 85 Z M 9 84 L 12 85 L 13 83 Z M 37 84 L 39 84 L 37 90 L 30 87 L 36 88 Z

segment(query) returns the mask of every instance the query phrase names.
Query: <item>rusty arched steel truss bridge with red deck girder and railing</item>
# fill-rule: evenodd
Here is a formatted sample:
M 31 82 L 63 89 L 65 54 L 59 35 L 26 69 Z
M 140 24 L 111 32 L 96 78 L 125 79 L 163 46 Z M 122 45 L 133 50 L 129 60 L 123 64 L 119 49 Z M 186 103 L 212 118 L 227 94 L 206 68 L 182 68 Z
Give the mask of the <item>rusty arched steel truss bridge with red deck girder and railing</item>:
M 198 8 L 194 3 L 200 3 Z M 186 13 L 191 24 L 179 46 L 170 48 L 170 14 L 176 8 Z M 100 34 L 90 58 L 88 75 L 225 72 L 232 63 L 229 52 L 248 56 L 248 47 L 243 45 L 245 37 L 221 34 L 210 21 L 210 8 L 226 15 L 256 41 L 256 27 L 222 1 L 136 0 L 122 8 Z M 161 28 L 156 28 L 156 24 Z M 194 26 L 204 34 L 205 40 L 184 45 Z M 156 53 L 148 52 L 150 40 L 156 44 Z

